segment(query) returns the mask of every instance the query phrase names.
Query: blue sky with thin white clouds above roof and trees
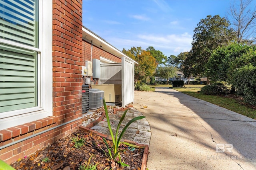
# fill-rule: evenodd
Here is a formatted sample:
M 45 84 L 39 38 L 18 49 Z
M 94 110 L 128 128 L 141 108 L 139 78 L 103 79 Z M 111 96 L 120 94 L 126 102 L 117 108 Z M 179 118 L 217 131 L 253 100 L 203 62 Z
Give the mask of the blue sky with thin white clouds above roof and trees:
M 232 0 L 83 0 L 85 27 L 122 51 L 149 46 L 164 55 L 191 49 L 194 28 L 208 15 L 227 16 Z

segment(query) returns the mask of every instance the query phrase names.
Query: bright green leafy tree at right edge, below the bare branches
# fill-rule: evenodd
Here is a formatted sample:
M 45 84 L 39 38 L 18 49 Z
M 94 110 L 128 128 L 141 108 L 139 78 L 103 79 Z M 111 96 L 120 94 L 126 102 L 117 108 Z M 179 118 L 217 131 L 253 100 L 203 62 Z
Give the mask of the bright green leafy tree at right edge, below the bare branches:
M 215 49 L 206 64 L 206 76 L 214 81 L 229 81 L 234 72 L 245 65 L 256 65 L 256 47 L 231 43 Z

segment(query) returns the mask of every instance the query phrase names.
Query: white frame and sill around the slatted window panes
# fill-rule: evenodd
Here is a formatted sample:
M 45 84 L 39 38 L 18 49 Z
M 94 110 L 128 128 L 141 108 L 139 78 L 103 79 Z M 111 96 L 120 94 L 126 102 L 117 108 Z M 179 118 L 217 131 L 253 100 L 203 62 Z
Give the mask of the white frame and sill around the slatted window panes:
M 39 47 L 0 39 L 38 52 L 38 106 L 0 113 L 0 130 L 52 116 L 52 0 L 38 0 Z

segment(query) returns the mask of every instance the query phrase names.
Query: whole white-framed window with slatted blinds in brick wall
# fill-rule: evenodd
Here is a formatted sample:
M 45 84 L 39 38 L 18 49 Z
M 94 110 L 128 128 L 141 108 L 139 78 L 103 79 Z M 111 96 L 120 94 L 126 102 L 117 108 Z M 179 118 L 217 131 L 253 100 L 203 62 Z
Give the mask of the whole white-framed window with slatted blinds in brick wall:
M 0 129 L 52 114 L 51 11 L 48 0 L 0 1 Z

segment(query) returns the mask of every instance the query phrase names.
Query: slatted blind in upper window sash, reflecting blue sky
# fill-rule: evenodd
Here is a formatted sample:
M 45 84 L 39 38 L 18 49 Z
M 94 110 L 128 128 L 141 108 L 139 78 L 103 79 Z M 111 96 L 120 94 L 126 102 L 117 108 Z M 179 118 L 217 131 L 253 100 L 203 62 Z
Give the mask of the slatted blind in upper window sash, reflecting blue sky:
M 36 11 L 33 0 L 0 0 L 0 37 L 38 47 Z

